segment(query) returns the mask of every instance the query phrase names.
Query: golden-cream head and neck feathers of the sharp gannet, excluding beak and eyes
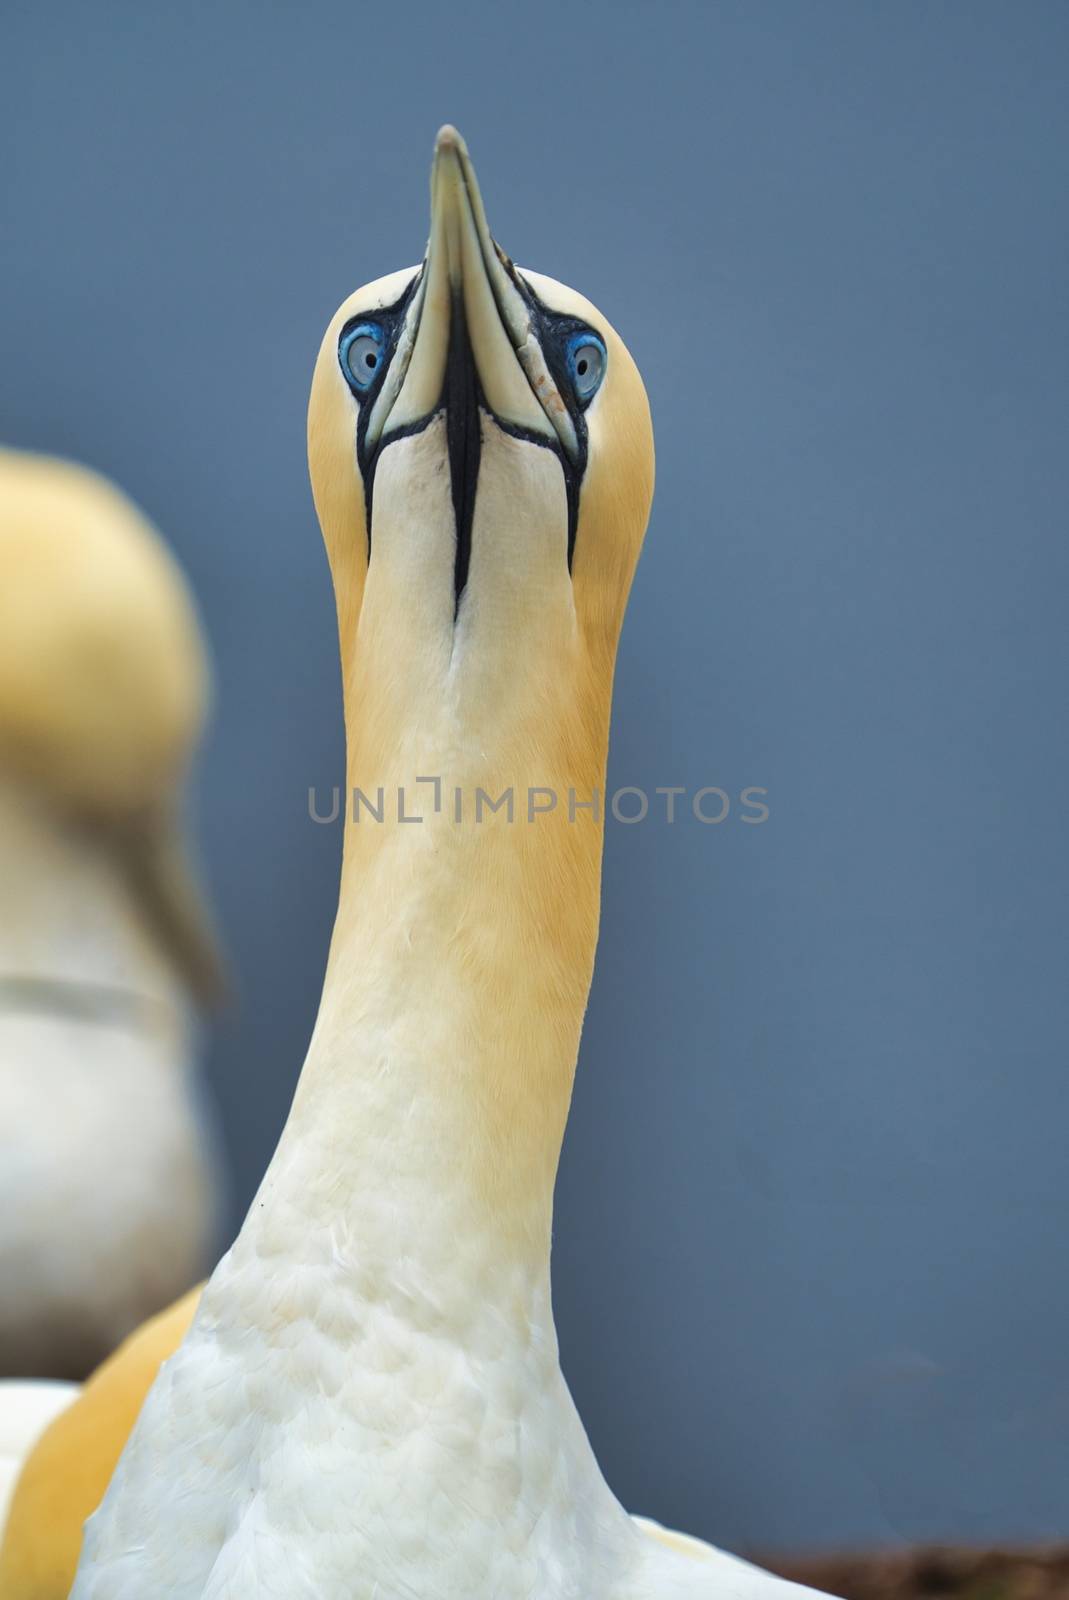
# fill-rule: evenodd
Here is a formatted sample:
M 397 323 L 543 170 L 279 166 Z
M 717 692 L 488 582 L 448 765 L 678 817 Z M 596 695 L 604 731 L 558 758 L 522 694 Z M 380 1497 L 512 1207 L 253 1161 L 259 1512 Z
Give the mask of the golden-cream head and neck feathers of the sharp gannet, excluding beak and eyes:
M 299 1136 L 285 1138 L 278 1166 L 294 1192 L 322 1187 L 325 1227 L 336 1230 L 339 1206 L 363 1237 L 400 1214 L 427 1251 L 451 1229 L 528 1275 L 547 1269 L 597 944 L 602 818 L 583 806 L 603 795 L 616 643 L 653 491 L 631 355 L 581 296 L 530 282 L 592 320 L 608 350 L 586 418 L 575 558 L 559 456 L 483 422 L 459 608 L 445 414 L 376 458 L 370 534 L 354 462 L 338 341 L 403 285 L 352 296 L 320 349 L 309 467 L 338 605 L 347 790 L 378 803 L 381 789 L 384 814 L 355 821 L 347 806 Z M 438 779 L 440 810 L 419 779 Z M 403 814 L 421 821 L 398 816 L 402 790 Z M 477 790 L 510 792 L 512 816 L 483 802 L 477 818 Z M 552 792 L 554 808 L 528 819 L 530 790 Z M 336 1176 L 320 1182 L 320 1170 Z

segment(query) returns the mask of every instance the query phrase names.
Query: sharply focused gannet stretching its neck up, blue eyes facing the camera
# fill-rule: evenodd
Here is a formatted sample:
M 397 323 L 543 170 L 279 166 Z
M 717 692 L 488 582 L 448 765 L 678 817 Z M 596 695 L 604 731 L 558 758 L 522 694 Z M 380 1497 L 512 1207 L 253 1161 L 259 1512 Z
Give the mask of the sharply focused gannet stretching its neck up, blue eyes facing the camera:
M 309 462 L 347 787 L 381 821 L 346 824 L 290 1118 L 178 1318 L 72 1600 L 802 1595 L 627 1515 L 560 1371 L 552 1192 L 599 925 L 591 802 L 653 434 L 600 312 L 494 245 L 453 128 L 422 266 L 326 330 Z M 154 1365 L 173 1342 L 147 1338 Z M 53 1424 L 51 1470 L 94 1416 L 112 1427 L 86 1390 Z M 38 1451 L 38 1490 L 48 1469 Z M 30 1494 L 19 1526 L 16 1499 L 6 1549 L 29 1549 L 34 1514 Z

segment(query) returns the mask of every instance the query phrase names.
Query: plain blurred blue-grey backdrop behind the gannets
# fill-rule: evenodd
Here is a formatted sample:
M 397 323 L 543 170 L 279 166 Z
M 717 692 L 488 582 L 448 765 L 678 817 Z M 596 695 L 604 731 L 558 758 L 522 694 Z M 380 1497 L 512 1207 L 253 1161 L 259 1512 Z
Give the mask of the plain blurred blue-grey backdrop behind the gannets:
M 733 1544 L 1069 1533 L 1069 10 L 11 5 L 0 437 L 178 547 L 242 979 L 235 1218 L 318 997 L 334 621 L 304 466 L 341 298 L 435 126 L 643 368 L 659 488 L 559 1192 L 567 1371 L 621 1498 Z

